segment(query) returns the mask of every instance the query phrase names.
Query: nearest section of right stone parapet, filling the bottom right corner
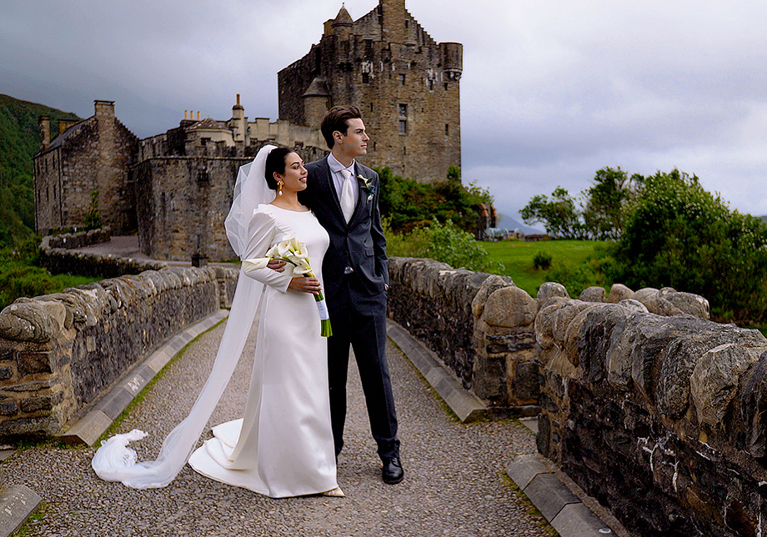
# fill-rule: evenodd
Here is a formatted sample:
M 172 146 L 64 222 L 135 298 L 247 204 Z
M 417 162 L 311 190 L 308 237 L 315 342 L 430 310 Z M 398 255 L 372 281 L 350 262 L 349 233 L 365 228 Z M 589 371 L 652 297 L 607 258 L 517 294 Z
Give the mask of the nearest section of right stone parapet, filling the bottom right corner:
M 671 315 L 541 304 L 539 451 L 634 535 L 765 535 L 767 339 L 676 311 L 700 297 L 636 295 Z

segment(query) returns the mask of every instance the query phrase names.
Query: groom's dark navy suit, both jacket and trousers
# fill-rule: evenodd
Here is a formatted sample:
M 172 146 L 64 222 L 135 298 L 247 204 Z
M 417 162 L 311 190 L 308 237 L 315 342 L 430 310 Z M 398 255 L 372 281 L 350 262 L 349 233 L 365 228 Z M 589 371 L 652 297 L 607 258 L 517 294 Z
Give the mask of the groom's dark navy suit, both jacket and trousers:
M 386 295 L 389 263 L 386 239 L 378 211 L 378 174 L 360 163 L 354 165 L 357 205 L 346 223 L 333 178 L 324 158 L 306 166 L 306 190 L 299 200 L 314 211 L 330 235 L 322 264 L 325 296 L 334 326 L 328 338 L 330 417 L 336 455 L 343 447 L 346 417 L 346 380 L 349 347 L 365 392 L 370 429 L 382 459 L 399 456 L 397 415 L 386 364 Z M 367 183 L 367 185 L 366 185 Z M 345 274 L 351 267 L 353 273 Z

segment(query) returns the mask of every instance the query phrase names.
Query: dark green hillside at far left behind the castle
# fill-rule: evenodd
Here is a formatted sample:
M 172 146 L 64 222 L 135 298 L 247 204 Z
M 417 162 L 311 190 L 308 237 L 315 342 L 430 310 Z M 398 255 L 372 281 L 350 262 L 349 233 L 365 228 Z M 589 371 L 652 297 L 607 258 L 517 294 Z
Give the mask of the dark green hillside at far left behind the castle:
M 51 117 L 51 133 L 60 119 L 75 114 L 0 94 L 0 247 L 31 236 L 35 227 L 32 157 L 40 147 L 38 116 Z

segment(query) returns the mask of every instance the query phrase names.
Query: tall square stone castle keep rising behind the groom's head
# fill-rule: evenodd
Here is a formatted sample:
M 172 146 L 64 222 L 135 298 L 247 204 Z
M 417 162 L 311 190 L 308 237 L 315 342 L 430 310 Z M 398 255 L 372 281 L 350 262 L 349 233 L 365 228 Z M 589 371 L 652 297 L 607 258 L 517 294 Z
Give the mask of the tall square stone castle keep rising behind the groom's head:
M 353 104 L 370 134 L 370 166 L 420 182 L 461 165 L 463 46 L 437 43 L 405 0 L 379 0 L 357 20 L 342 7 L 320 42 L 278 74 L 280 119 L 319 127 L 325 110 Z

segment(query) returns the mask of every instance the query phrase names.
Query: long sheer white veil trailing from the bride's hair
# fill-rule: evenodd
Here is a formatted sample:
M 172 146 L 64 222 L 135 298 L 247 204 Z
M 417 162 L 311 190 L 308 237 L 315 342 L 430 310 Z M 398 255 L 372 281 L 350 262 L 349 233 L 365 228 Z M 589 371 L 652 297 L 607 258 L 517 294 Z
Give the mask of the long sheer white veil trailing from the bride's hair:
M 225 226 L 232 249 L 241 259 L 246 254 L 248 223 L 253 211 L 275 197 L 264 178 L 266 156 L 274 148 L 272 145 L 261 148 L 253 162 L 240 168 L 234 185 L 232 208 Z M 146 436 L 138 429 L 102 442 L 91 462 L 101 479 L 121 481 L 137 489 L 159 488 L 173 481 L 186 464 L 234 373 L 260 306 L 263 284 L 253 278 L 242 277 L 242 273 L 240 276 L 216 361 L 189 415 L 168 434 L 154 461 L 136 462 L 136 452 L 127 447 L 129 442 Z

